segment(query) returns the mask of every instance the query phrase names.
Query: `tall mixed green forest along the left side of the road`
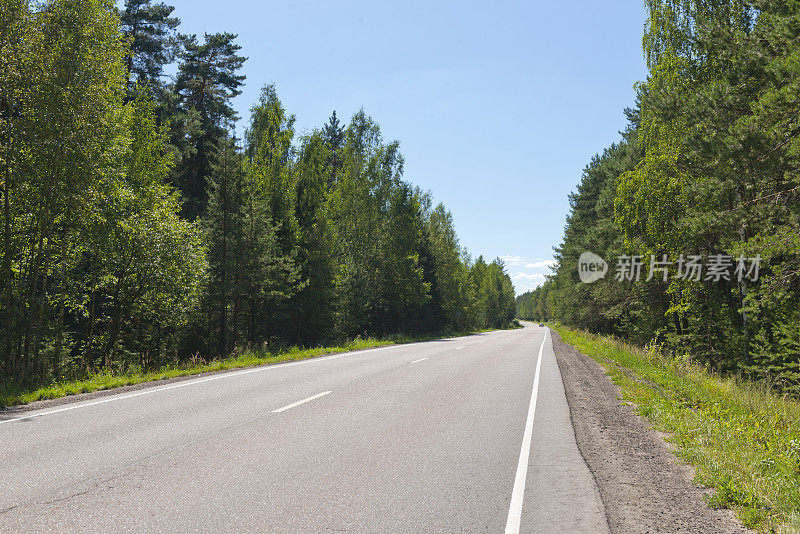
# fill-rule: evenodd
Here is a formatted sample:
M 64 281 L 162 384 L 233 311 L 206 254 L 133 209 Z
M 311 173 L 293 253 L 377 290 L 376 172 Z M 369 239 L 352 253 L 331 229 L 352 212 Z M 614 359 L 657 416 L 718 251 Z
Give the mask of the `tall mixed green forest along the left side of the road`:
M 514 319 L 364 111 L 301 134 L 266 85 L 237 137 L 236 39 L 152 0 L 0 0 L 4 385 Z

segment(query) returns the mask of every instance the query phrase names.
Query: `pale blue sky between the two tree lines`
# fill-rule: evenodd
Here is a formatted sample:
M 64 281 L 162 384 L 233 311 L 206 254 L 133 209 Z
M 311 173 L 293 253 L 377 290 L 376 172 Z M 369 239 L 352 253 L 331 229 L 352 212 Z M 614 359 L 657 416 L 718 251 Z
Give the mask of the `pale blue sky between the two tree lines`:
M 239 35 L 243 122 L 273 82 L 300 132 L 363 107 L 518 293 L 549 272 L 567 195 L 645 76 L 641 0 L 165 1 L 183 33 Z

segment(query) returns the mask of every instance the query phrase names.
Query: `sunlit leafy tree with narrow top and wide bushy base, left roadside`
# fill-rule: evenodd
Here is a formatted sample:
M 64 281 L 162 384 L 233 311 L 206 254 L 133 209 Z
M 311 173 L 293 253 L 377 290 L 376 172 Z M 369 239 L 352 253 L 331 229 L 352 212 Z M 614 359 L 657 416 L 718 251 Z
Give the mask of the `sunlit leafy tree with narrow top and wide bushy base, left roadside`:
M 139 361 L 123 365 L 147 366 L 172 350 L 165 344 L 174 343 L 188 321 L 206 271 L 200 232 L 179 218 L 178 197 L 165 183 L 171 165 L 166 132 L 156 127 L 146 93 L 124 108 L 124 117 L 123 179 L 104 184 L 96 217 L 81 229 L 89 241 L 72 277 L 84 274 L 88 294 L 74 311 L 89 321 L 88 331 L 108 323 L 101 334 L 105 367 L 117 351 L 139 354 Z M 90 334 L 81 351 L 84 364 L 95 345 Z

